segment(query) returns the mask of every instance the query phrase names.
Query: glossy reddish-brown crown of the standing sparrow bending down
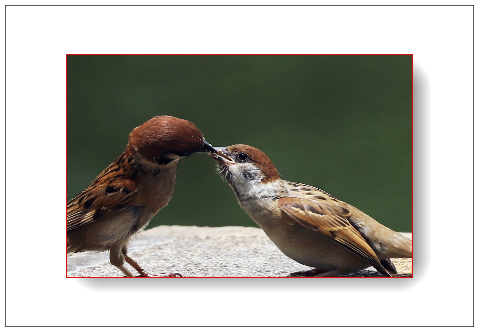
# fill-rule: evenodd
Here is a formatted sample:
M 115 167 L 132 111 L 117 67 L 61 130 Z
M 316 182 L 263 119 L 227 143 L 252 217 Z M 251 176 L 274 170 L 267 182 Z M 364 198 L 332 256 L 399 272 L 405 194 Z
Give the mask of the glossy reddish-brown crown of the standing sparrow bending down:
M 170 115 L 156 116 L 130 133 L 127 150 L 135 149 L 147 160 L 163 153 L 194 151 L 203 145 L 203 134 L 187 120 Z

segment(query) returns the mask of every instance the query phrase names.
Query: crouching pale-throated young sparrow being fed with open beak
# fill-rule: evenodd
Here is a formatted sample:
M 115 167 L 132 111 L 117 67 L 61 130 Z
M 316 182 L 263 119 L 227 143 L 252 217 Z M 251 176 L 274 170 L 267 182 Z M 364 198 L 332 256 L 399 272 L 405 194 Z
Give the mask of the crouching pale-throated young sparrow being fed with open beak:
M 410 258 L 411 240 L 321 189 L 282 180 L 248 145 L 214 148 L 220 175 L 239 205 L 288 257 L 315 267 L 291 275 L 337 276 L 374 266 L 397 273 L 390 258 Z

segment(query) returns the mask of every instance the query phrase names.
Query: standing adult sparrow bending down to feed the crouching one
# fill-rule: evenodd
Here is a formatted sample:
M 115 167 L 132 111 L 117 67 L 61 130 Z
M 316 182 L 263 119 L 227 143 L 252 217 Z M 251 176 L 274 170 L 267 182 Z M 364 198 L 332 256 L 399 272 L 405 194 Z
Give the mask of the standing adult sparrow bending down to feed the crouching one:
M 68 202 L 68 252 L 109 250 L 110 263 L 126 276 L 134 275 L 124 261 L 153 276 L 126 255 L 128 242 L 168 204 L 178 162 L 195 152 L 215 149 L 190 121 L 162 115 L 133 129 L 125 152 Z

